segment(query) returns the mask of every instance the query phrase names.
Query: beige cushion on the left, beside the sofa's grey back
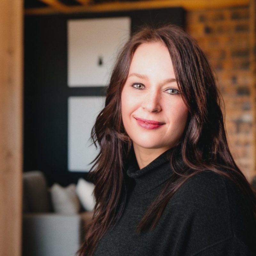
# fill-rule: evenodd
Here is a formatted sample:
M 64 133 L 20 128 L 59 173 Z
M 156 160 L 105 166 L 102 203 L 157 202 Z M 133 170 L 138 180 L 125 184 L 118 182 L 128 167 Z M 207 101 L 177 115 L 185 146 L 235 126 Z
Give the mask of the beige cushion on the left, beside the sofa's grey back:
M 52 206 L 56 213 L 76 214 L 80 210 L 80 202 L 76 195 L 76 185 L 70 184 L 68 187 L 61 187 L 53 184 L 51 188 Z

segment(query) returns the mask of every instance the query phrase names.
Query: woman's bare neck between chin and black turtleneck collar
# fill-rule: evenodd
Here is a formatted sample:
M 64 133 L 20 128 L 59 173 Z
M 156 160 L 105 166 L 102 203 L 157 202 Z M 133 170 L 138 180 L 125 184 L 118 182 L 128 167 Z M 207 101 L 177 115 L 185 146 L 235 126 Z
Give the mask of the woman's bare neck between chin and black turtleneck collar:
M 169 148 L 140 148 L 133 143 L 134 153 L 140 169 L 147 166 Z

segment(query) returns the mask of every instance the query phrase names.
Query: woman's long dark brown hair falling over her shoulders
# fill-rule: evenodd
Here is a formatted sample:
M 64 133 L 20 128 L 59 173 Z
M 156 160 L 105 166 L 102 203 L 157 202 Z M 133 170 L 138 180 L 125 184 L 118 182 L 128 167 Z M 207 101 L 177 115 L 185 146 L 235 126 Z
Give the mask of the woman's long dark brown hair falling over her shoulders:
M 95 183 L 96 205 L 78 255 L 92 255 L 101 237 L 120 219 L 127 195 L 125 163 L 131 140 L 121 117 L 121 92 L 127 79 L 133 53 L 140 44 L 162 42 L 169 50 L 172 64 L 188 108 L 189 116 L 180 144 L 173 148 L 170 165 L 174 172 L 164 189 L 138 223 L 137 231 L 154 228 L 166 204 L 192 175 L 212 170 L 233 180 L 252 202 L 255 195 L 230 154 L 220 109 L 220 95 L 207 58 L 196 42 L 181 28 L 168 25 L 143 28 L 120 52 L 107 88 L 105 108 L 92 130 L 100 148 L 90 175 Z M 178 159 L 182 159 L 182 164 Z

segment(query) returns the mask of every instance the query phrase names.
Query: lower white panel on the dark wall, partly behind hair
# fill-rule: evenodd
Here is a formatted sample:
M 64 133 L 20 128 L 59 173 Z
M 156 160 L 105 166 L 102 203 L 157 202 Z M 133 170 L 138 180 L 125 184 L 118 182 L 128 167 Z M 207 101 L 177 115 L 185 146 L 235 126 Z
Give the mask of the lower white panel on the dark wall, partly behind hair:
M 103 96 L 68 98 L 68 170 L 88 172 L 97 156 L 91 131 L 105 103 Z

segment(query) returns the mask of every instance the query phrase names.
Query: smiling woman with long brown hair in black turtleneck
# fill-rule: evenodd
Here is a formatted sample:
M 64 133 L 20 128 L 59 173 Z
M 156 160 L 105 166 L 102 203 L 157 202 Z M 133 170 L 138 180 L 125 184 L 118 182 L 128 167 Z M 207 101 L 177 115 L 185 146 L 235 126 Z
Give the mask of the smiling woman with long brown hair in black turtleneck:
M 96 206 L 79 255 L 256 255 L 255 195 L 219 97 L 181 28 L 132 36 L 92 131 Z

